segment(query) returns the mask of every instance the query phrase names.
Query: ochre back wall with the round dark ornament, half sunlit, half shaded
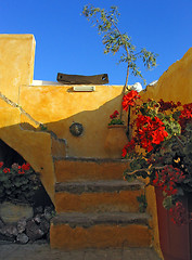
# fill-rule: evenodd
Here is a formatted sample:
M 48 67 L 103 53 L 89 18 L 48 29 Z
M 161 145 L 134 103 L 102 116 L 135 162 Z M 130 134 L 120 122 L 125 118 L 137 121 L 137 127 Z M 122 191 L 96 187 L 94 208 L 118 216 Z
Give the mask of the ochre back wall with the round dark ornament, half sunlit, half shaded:
M 95 86 L 94 92 L 73 92 L 72 86 L 22 87 L 20 105 L 59 138 L 67 141 L 67 155 L 110 157 L 104 148 L 110 115 L 120 109 L 123 87 Z M 84 126 L 80 136 L 69 132 L 74 122 Z

